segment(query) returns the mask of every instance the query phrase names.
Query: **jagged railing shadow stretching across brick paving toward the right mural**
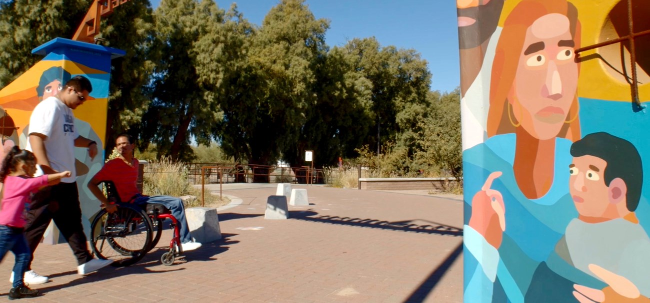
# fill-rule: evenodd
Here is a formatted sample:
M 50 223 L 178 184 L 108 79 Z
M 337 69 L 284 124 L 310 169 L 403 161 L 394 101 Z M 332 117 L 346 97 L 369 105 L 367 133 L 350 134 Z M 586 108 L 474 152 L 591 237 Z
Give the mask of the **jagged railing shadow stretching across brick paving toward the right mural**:
M 348 225 L 348 226 L 357 226 L 365 228 L 380 228 L 384 230 L 395 230 L 399 232 L 417 232 L 424 234 L 437 234 L 443 236 L 454 236 L 460 237 L 463 236 L 463 230 L 454 226 L 448 226 L 445 224 L 439 224 L 426 220 L 407 220 L 407 221 L 380 221 L 375 219 L 361 219 L 361 218 L 351 218 L 351 217 L 339 217 L 336 215 L 320 215 L 318 217 L 313 217 L 317 215 L 316 212 L 290 212 L 289 219 L 294 220 L 303 220 L 311 221 L 318 223 L 328 223 L 328 224 L 339 224 L 339 225 Z M 415 224 L 413 222 L 424 221 L 431 224 Z

